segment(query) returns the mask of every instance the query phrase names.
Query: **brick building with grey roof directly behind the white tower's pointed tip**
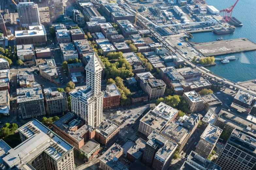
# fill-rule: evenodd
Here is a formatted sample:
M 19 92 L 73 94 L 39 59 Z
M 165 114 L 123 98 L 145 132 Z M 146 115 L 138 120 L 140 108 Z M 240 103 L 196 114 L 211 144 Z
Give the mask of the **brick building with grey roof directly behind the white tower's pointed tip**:
M 75 49 L 77 50 L 80 60 L 82 60 L 83 54 L 93 53 L 93 49 L 91 48 L 87 39 L 74 40 L 73 43 L 74 43 Z

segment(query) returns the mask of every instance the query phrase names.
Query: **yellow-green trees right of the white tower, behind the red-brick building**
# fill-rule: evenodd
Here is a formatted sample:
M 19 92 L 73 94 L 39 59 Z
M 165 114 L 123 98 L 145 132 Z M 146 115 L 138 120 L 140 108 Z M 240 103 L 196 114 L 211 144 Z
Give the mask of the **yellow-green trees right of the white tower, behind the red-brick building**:
M 107 80 L 107 84 L 115 84 L 117 86 L 117 89 L 119 90 L 121 96 L 120 96 L 120 104 L 123 105 L 129 105 L 131 103 L 131 92 L 127 87 L 123 84 L 123 79 L 120 77 L 116 77 L 115 80 L 112 78 L 109 78 Z

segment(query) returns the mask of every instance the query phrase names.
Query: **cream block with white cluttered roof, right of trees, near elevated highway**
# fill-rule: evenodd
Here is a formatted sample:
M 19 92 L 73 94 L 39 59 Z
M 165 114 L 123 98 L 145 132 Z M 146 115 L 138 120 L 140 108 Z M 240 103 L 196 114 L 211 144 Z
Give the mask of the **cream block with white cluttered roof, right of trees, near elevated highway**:
M 184 92 L 183 98 L 185 99 L 189 112 L 196 112 L 202 110 L 205 106 L 205 101 L 202 99 L 199 93 L 195 91 Z

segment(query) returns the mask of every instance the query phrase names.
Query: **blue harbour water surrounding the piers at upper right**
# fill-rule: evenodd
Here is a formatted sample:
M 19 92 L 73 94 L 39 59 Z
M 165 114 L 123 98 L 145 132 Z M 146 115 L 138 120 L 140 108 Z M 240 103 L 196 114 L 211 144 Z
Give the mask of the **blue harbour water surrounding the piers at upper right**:
M 208 5 L 216 7 L 218 10 L 223 8 L 228 8 L 232 6 L 236 0 L 207 0 Z M 238 1 L 236 6 L 233 9 L 232 16 L 238 19 L 243 23 L 242 27 L 237 27 L 233 34 L 228 35 L 215 35 L 213 32 L 209 33 L 197 33 L 193 34 L 194 38 L 191 41 L 194 42 L 209 42 L 215 41 L 220 36 L 223 39 L 233 39 L 245 37 L 249 40 L 256 42 L 255 28 L 256 28 L 256 1 L 252 0 L 249 2 Z M 222 14 L 221 14 L 222 15 Z M 211 70 L 216 75 L 224 77 L 229 80 L 237 81 L 246 81 L 251 79 L 256 79 L 256 51 L 231 54 L 234 56 L 240 56 L 239 60 L 230 61 L 228 64 L 221 64 L 216 61 L 216 66 L 207 67 L 208 70 Z M 222 57 L 231 56 L 223 55 Z M 221 57 L 221 56 L 220 56 Z

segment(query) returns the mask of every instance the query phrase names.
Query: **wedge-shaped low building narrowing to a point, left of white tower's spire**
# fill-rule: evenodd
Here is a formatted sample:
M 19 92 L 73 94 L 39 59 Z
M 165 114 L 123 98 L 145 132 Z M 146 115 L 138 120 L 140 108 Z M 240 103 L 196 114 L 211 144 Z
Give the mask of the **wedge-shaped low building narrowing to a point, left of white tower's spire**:
M 39 69 L 43 78 L 59 85 L 58 73 L 54 59 L 46 60 L 46 64 L 39 65 Z

